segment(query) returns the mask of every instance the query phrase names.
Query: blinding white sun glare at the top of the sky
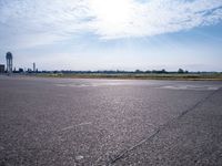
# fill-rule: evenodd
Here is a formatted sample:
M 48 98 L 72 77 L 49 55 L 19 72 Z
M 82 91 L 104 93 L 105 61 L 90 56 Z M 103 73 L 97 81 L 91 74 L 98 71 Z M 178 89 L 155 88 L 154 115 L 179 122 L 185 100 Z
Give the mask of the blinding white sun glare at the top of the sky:
M 132 14 L 132 0 L 90 0 L 90 7 L 98 22 L 112 31 L 123 29 Z

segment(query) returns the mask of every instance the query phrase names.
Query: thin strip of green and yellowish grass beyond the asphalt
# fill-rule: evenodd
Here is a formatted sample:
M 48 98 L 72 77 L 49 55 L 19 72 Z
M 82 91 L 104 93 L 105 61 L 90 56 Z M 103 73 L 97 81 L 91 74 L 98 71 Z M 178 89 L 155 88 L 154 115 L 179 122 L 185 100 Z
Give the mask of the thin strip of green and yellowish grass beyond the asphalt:
M 32 75 L 32 74 L 31 74 Z M 70 77 L 70 79 L 138 79 L 138 80 L 208 80 L 208 81 L 222 81 L 222 73 L 200 73 L 200 74 L 151 74 L 151 73 L 115 73 L 115 74 L 107 74 L 107 73 L 38 73 L 34 76 L 43 76 L 43 77 Z

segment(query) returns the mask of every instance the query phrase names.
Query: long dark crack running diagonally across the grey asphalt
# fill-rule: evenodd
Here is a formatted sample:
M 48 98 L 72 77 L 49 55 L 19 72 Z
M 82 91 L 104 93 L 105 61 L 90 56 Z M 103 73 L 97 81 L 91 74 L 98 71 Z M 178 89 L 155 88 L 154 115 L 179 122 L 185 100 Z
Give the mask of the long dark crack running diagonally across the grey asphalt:
M 117 155 L 113 159 L 111 159 L 110 162 L 108 162 L 105 165 L 107 166 L 111 166 L 113 165 L 117 160 L 125 157 L 131 151 L 135 149 L 137 147 L 141 146 L 142 144 L 144 144 L 145 142 L 152 139 L 154 136 L 157 136 L 165 126 L 168 126 L 170 123 L 182 118 L 185 114 L 188 114 L 189 112 L 193 111 L 194 108 L 196 108 L 199 105 L 201 105 L 203 102 L 208 101 L 210 97 L 212 97 L 215 93 L 218 93 L 222 87 L 218 89 L 216 91 L 213 91 L 212 93 L 210 93 L 208 96 L 203 97 L 202 100 L 200 100 L 199 102 L 196 102 L 193 106 L 191 106 L 190 108 L 183 111 L 179 116 L 172 118 L 171 121 L 167 122 L 165 124 L 159 126 L 159 128 L 149 137 L 140 141 L 138 144 L 131 146 L 130 148 L 123 151 L 122 153 L 120 153 L 119 155 Z

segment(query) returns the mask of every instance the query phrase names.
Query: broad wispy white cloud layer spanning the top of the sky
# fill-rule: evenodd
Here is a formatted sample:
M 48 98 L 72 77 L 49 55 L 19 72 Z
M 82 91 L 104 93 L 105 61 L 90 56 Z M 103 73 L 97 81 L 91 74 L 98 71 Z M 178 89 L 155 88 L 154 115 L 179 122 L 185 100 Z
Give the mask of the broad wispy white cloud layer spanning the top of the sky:
M 0 44 L 50 44 L 84 32 L 152 37 L 221 20 L 221 0 L 0 0 Z

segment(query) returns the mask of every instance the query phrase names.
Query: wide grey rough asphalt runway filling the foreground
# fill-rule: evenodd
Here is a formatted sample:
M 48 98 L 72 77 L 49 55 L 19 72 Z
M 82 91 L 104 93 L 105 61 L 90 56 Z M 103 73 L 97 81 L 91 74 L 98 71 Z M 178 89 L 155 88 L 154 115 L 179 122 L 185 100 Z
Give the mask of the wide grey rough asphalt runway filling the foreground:
M 221 166 L 222 82 L 0 76 L 0 166 Z

